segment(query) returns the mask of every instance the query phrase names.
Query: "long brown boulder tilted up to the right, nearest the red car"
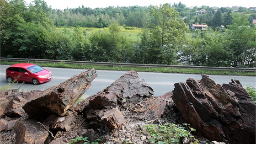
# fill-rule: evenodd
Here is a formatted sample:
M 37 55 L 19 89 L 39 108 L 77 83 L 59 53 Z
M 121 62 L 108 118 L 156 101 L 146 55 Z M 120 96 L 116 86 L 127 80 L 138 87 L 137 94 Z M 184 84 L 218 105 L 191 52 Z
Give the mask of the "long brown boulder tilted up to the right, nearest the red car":
M 34 119 L 45 119 L 51 114 L 62 117 L 91 86 L 91 82 L 96 76 L 94 69 L 75 75 L 63 83 L 43 91 L 40 96 L 28 101 L 23 109 Z

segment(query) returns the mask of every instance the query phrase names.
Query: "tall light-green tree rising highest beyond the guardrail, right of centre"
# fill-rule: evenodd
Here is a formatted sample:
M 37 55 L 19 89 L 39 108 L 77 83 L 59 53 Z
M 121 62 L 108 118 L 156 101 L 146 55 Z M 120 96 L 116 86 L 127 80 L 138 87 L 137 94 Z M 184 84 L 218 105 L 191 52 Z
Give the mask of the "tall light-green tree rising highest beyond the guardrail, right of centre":
M 155 25 L 150 29 L 150 40 L 152 56 L 157 53 L 158 60 L 154 59 L 150 63 L 154 64 L 174 64 L 176 63 L 176 52 L 186 42 L 187 27 L 183 20 L 178 19 L 178 12 L 169 4 L 151 8 L 155 18 Z M 150 61 L 150 60 L 148 60 Z

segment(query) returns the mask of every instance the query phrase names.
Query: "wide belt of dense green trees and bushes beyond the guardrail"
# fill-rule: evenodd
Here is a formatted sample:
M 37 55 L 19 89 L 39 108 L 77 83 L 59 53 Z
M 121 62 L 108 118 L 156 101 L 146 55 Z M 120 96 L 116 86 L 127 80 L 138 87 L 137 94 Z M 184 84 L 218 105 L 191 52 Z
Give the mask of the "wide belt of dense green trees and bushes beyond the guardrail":
M 256 10 L 159 6 L 55 10 L 43 0 L 0 0 L 0 56 L 255 68 Z M 205 10 L 203 13 L 198 13 Z M 192 24 L 208 25 L 206 30 Z M 221 27 L 222 26 L 222 27 Z M 98 29 L 88 36 L 83 27 Z M 128 40 L 120 27 L 139 27 Z

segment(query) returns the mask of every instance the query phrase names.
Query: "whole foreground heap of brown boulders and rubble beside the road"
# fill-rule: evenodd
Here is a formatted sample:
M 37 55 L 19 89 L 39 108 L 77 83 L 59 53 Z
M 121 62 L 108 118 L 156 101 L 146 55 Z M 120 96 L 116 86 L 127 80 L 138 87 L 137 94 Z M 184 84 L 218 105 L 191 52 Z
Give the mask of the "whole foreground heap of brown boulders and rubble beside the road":
M 0 92 L 0 101 L 2 97 L 9 101 L 9 106 L 1 105 L 6 115 L 3 113 L 0 120 L 0 143 L 67 144 L 87 137 L 91 142 L 143 144 L 151 138 L 145 124 L 182 124 L 185 121 L 181 114 L 199 135 L 234 143 L 230 133 L 239 137 L 237 132 L 241 130 L 247 134 L 241 136 L 251 142 L 251 121 L 255 118 L 251 117 L 251 107 L 255 104 L 238 81 L 221 86 L 203 75 L 200 81 L 188 79 L 175 84 L 173 92 L 153 96 L 152 88 L 132 70 L 104 90 L 75 103 L 95 77 L 91 69 L 45 91 Z

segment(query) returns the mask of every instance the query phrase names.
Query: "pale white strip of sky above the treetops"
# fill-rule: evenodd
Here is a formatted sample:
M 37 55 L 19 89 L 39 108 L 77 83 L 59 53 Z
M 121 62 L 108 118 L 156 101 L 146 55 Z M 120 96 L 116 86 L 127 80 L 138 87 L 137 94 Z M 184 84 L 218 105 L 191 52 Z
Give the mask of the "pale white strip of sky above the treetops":
M 34 0 L 24 0 L 29 4 Z M 226 6 L 242 6 L 242 7 L 256 7 L 256 0 L 44 0 L 48 6 L 51 6 L 52 9 L 64 10 L 68 8 L 78 8 L 84 5 L 84 7 L 90 8 L 105 8 L 108 6 L 149 6 L 165 4 L 165 3 L 179 3 L 185 4 L 187 7 L 190 6 L 217 6 L 217 7 L 226 7 Z

